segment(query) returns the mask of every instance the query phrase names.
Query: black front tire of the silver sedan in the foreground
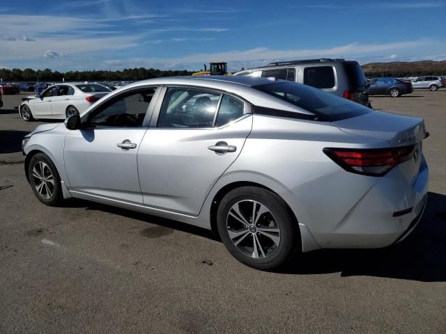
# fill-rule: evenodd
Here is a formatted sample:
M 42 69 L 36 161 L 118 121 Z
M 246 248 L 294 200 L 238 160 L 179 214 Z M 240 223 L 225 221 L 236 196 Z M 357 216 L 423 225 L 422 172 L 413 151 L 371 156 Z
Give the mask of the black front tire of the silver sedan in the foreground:
M 44 168 L 41 168 L 41 166 L 43 166 L 42 164 L 45 165 Z M 38 191 L 38 186 L 40 185 L 41 180 L 36 177 L 36 173 L 33 173 L 34 168 L 36 168 L 36 171 L 40 175 L 42 175 L 41 171 L 43 169 L 44 177 L 48 177 L 47 180 L 45 180 L 44 182 L 46 184 L 44 184 L 41 189 L 42 193 Z M 49 172 L 52 175 L 54 184 L 50 182 Z M 49 157 L 47 157 L 46 154 L 38 153 L 31 158 L 28 166 L 28 175 L 31 189 L 33 189 L 34 195 L 36 195 L 40 202 L 43 202 L 43 204 L 49 205 L 50 207 L 54 207 L 58 205 L 59 202 L 61 202 L 61 200 L 63 199 L 61 178 L 59 177 L 59 173 L 57 173 L 56 166 L 54 166 L 53 162 L 51 161 L 51 159 L 49 159 Z M 51 196 L 49 196 L 50 193 Z

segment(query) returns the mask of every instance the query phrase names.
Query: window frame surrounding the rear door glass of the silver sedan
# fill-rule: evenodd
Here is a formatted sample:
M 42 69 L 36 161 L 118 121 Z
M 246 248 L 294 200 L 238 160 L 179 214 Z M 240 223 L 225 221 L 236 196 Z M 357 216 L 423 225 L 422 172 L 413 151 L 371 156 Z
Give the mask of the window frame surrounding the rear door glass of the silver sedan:
M 220 94 L 220 100 L 219 100 L 220 104 L 221 104 L 223 95 L 228 95 L 230 97 L 233 97 L 233 98 L 243 102 L 243 115 L 240 116 L 239 118 L 236 118 L 235 120 L 232 120 L 231 122 L 229 122 L 225 125 L 222 125 L 221 127 L 215 127 L 215 122 L 217 120 L 217 116 L 220 111 L 220 104 L 217 104 L 217 112 L 215 113 L 215 116 L 214 116 L 213 127 L 157 127 L 158 118 L 160 118 L 162 102 L 164 102 L 164 97 L 166 96 L 168 88 L 187 88 L 187 89 L 201 90 L 201 91 L 209 92 L 212 94 Z M 172 130 L 172 129 L 176 129 L 176 130 L 198 130 L 198 129 L 199 130 L 216 130 L 216 129 L 222 129 L 224 127 L 227 127 L 234 122 L 238 122 L 238 120 L 245 118 L 247 115 L 252 115 L 252 104 L 247 102 L 247 100 L 245 100 L 243 97 L 240 97 L 236 94 L 227 92 L 226 90 L 207 88 L 207 87 L 201 87 L 201 86 L 192 86 L 192 85 L 162 85 L 162 88 L 160 89 L 160 95 L 158 95 L 156 105 L 153 109 L 153 115 L 151 118 L 149 128 L 150 129 L 160 129 L 160 130 L 163 130 L 163 129 L 164 130 Z

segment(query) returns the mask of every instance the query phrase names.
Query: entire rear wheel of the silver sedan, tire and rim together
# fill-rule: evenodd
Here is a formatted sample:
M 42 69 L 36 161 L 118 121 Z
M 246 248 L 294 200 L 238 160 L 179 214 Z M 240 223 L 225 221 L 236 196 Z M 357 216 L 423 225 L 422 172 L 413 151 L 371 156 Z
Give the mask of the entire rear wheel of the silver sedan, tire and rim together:
M 249 267 L 270 270 L 300 251 L 300 232 L 275 193 L 254 186 L 234 189 L 217 210 L 217 228 L 229 253 Z

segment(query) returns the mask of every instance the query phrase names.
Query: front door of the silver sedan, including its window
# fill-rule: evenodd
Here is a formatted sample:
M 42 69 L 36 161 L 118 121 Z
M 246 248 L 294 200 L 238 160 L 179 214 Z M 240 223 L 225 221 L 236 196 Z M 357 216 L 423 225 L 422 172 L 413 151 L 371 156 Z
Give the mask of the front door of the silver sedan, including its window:
M 70 191 L 142 204 L 137 152 L 155 88 L 132 90 L 93 109 L 82 129 L 70 131 L 65 168 Z

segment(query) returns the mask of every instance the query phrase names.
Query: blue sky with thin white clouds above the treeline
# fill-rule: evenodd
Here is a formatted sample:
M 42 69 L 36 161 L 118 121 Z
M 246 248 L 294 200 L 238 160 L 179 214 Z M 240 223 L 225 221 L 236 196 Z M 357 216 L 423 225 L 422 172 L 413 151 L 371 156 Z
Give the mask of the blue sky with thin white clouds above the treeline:
M 446 60 L 442 1 L 1 1 L 0 67 L 230 70 L 343 57 Z M 432 29 L 434 27 L 434 29 Z

